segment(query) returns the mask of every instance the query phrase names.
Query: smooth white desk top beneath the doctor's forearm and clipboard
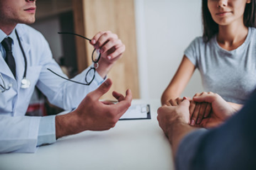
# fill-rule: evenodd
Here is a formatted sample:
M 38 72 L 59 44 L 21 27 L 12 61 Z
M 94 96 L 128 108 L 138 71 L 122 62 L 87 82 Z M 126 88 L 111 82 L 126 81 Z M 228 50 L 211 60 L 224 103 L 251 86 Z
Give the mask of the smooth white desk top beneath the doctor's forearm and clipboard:
M 170 144 L 156 116 L 159 100 L 149 103 L 150 120 L 121 120 L 108 131 L 84 131 L 39 147 L 36 153 L 0 155 L 0 169 L 174 169 Z

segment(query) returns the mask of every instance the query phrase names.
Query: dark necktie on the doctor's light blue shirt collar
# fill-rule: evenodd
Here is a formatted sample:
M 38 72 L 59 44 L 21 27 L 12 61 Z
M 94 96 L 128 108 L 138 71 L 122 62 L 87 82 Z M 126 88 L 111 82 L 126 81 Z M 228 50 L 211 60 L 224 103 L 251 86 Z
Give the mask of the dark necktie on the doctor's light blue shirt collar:
M 16 78 L 16 65 L 15 60 L 12 53 L 12 39 L 10 37 L 4 39 L 1 43 L 6 50 L 6 63 L 9 66 L 10 70 L 12 71 L 14 78 Z

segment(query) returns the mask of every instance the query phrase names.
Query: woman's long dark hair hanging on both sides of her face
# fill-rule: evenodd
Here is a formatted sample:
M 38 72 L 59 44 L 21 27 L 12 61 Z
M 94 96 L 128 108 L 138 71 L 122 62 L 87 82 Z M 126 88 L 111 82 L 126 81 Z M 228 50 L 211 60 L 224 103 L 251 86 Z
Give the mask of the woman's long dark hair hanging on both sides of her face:
M 247 27 L 256 28 L 255 3 L 256 0 L 252 0 L 246 4 L 246 8 L 244 9 L 243 23 Z M 207 4 L 208 0 L 202 0 L 202 25 L 204 26 L 202 37 L 205 42 L 208 42 L 218 32 L 218 24 L 212 19 Z

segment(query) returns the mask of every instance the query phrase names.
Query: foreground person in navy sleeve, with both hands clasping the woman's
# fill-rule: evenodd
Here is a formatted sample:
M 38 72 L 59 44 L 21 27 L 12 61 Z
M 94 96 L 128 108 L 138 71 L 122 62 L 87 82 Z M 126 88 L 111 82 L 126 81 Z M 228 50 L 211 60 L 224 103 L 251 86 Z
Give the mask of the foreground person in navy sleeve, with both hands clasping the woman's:
M 235 112 L 216 94 L 194 97 L 194 100 L 211 103 L 211 114 L 218 115 L 218 121 L 220 118 L 230 118 Z M 185 124 L 188 122 L 188 104 L 185 102 L 177 107 L 159 108 L 159 125 L 173 145 L 176 168 L 255 169 L 255 101 L 256 95 L 250 100 L 249 105 L 228 119 L 227 123 L 210 131 L 191 129 Z M 190 133 L 193 130 L 195 131 Z

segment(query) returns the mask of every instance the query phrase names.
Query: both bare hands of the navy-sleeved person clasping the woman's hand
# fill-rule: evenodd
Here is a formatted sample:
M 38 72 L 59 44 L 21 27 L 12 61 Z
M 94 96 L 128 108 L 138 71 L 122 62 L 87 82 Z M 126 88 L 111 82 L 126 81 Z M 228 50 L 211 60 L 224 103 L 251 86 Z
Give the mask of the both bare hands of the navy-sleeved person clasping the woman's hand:
M 212 106 L 212 114 L 202 121 L 202 127 L 223 123 L 236 112 L 221 96 L 214 93 L 195 96 L 193 100 L 207 102 Z M 162 106 L 157 111 L 159 125 L 166 133 L 170 144 L 172 144 L 174 156 L 184 136 L 198 129 L 188 125 L 190 119 L 189 106 L 190 101 L 184 97 L 184 100 L 178 106 Z

